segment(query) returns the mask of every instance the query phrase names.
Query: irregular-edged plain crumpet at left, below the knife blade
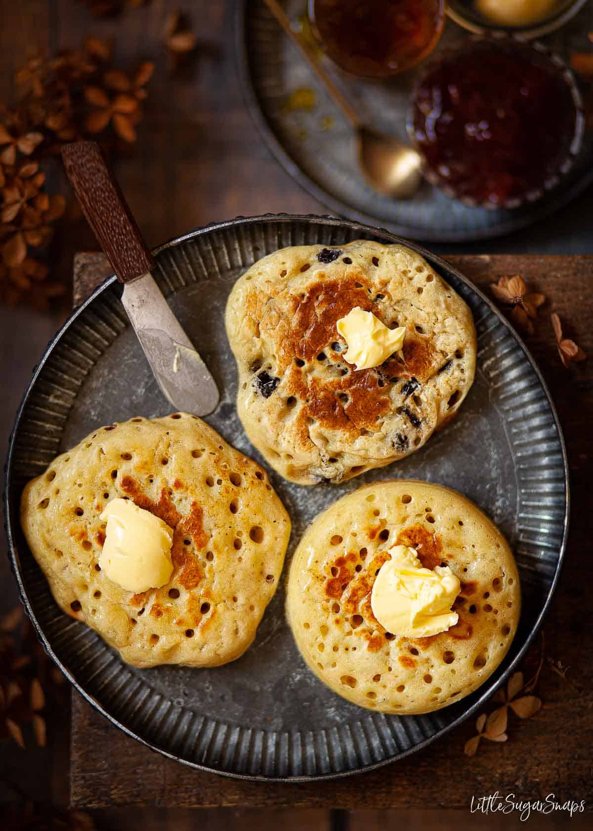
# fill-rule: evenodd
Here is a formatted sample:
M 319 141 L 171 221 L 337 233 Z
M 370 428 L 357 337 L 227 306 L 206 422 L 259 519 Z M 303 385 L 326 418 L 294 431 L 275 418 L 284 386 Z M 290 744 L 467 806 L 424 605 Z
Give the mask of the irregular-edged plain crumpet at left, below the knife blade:
M 115 497 L 174 529 L 174 571 L 134 594 L 100 570 Z M 61 609 L 135 666 L 218 666 L 245 652 L 276 591 L 290 519 L 259 465 L 186 413 L 95 430 L 22 494 L 22 529 Z

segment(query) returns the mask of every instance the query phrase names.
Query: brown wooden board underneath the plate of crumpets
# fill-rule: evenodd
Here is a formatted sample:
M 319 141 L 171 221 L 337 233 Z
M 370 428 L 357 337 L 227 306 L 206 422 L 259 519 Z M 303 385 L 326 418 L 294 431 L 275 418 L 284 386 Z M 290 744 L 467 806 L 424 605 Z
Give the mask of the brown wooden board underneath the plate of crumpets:
M 483 741 L 473 759 L 463 755 L 463 744 L 473 735 L 473 723 L 467 722 L 443 740 L 393 765 L 369 774 L 311 784 L 257 784 L 193 770 L 130 739 L 73 693 L 72 805 L 468 809 L 472 797 L 495 791 L 516 794 L 517 799 L 542 799 L 550 793 L 560 801 L 591 798 L 593 635 L 591 588 L 587 583 L 591 575 L 591 539 L 585 520 L 593 508 L 593 257 L 484 255 L 448 260 L 485 293 L 488 284 L 503 274 L 519 273 L 532 290 L 548 297 L 540 310 L 536 333 L 527 337 L 527 343 L 556 402 L 571 467 L 571 541 L 544 627 L 546 659 L 571 667 L 570 684 L 562 681 L 546 660 L 538 686 L 542 711 L 523 722 L 511 716 L 507 744 Z M 75 304 L 109 273 L 101 254 L 78 255 Z M 562 318 L 566 337 L 575 337 L 590 355 L 588 361 L 570 371 L 561 365 L 554 346 L 549 314 L 552 308 Z M 539 647 L 537 644 L 527 658 L 527 671 L 533 671 Z M 380 818 L 386 823 L 388 816 L 381 814 Z

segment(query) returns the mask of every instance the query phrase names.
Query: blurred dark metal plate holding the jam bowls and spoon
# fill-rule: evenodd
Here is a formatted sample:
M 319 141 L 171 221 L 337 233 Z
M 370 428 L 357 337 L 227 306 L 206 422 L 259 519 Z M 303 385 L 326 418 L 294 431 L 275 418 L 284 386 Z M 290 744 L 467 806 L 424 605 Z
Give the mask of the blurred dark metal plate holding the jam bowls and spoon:
M 306 10 L 304 0 L 285 0 L 284 6 L 294 21 Z M 589 131 L 575 165 L 561 184 L 520 208 L 470 208 L 428 182 L 413 199 L 388 199 L 365 183 L 356 165 L 350 125 L 263 0 L 237 2 L 235 25 L 239 81 L 262 137 L 285 170 L 336 214 L 412 239 L 469 242 L 526 228 L 561 208 L 593 181 L 593 135 Z M 586 34 L 592 30 L 593 4 L 587 3 L 542 42 L 567 61 L 571 52 L 590 47 Z M 448 21 L 434 55 L 466 42 L 468 37 L 468 32 Z M 346 77 L 335 68 L 332 71 L 364 120 L 407 141 L 410 94 L 423 66 L 381 82 Z M 311 111 L 290 111 L 288 96 L 302 87 L 315 92 L 316 106 Z

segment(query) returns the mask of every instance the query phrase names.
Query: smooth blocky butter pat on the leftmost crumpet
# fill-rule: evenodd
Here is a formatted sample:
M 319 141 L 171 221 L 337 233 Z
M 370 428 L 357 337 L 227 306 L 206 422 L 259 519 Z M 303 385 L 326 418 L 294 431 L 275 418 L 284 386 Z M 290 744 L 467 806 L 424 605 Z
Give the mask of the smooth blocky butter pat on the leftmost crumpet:
M 99 558 L 105 576 L 127 592 L 169 583 L 173 530 L 130 499 L 112 499 L 100 518 L 107 523 Z

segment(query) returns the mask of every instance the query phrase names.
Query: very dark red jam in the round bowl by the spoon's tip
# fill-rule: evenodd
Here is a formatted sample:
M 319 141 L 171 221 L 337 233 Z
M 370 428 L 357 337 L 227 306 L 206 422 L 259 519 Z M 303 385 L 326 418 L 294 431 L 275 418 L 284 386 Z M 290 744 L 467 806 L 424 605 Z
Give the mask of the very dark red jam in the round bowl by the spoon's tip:
M 413 140 L 429 179 L 447 192 L 513 207 L 554 183 L 576 115 L 571 86 L 549 58 L 517 42 L 482 41 L 421 79 Z

